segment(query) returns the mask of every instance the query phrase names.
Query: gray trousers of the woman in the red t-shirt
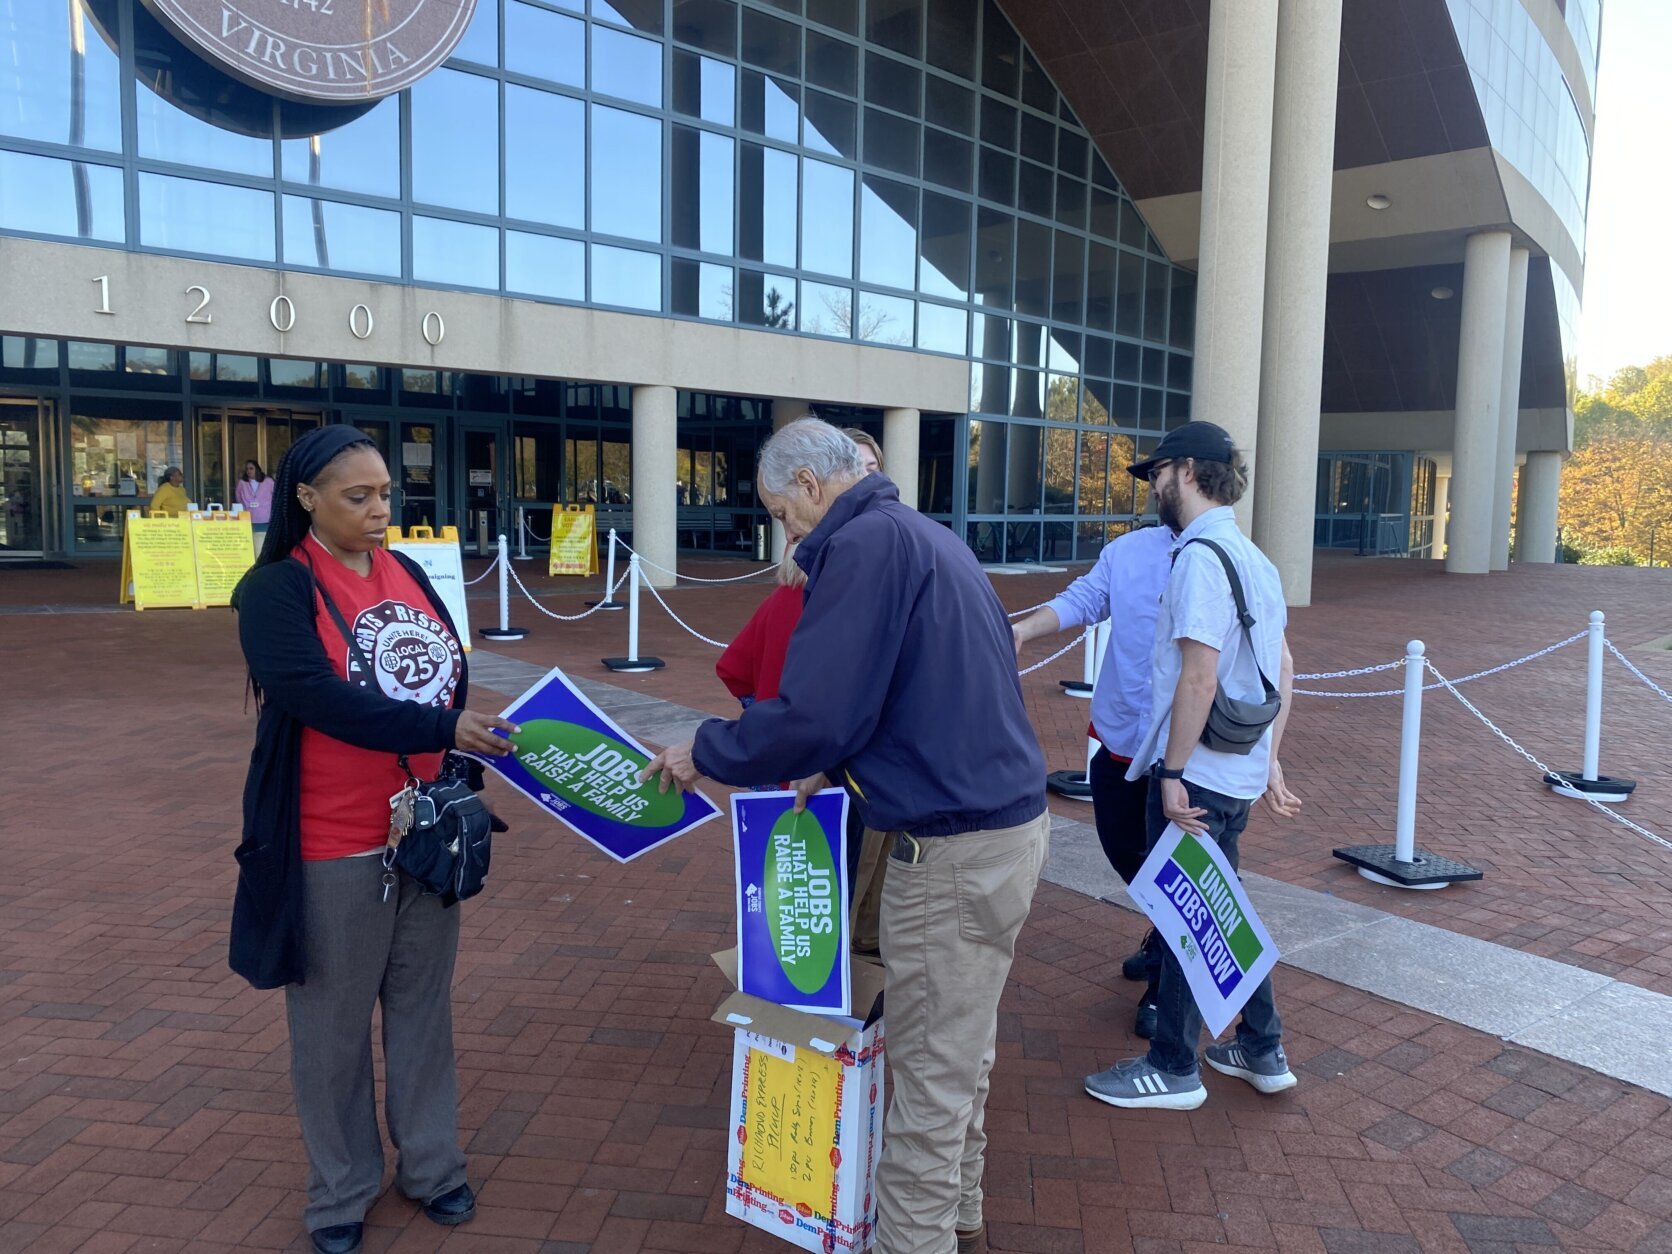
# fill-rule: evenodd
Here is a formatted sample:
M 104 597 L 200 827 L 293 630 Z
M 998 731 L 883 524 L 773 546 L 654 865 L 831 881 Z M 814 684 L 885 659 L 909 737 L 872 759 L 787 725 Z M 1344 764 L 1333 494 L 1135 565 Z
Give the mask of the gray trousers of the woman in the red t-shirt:
M 371 1008 L 383 1003 L 383 1114 L 398 1154 L 395 1185 L 428 1202 L 465 1182 L 453 1067 L 453 958 L 458 906 L 396 871 L 383 900 L 383 859 L 308 863 L 306 983 L 284 988 L 291 1085 L 308 1147 L 309 1231 L 358 1224 L 383 1185 L 383 1140 L 371 1073 Z

